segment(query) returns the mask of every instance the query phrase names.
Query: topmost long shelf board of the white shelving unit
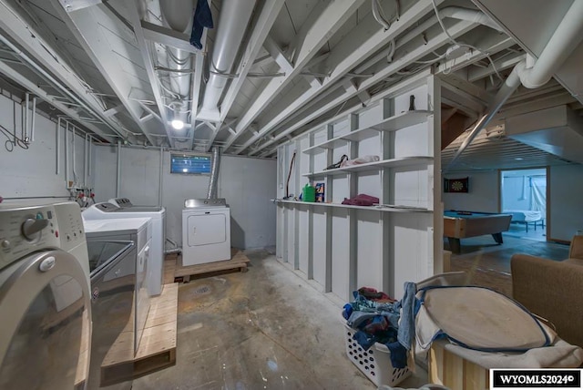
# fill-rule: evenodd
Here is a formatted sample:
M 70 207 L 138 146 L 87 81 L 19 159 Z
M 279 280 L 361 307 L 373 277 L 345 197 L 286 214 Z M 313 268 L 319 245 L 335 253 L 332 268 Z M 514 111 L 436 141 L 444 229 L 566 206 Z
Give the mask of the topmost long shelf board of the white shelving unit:
M 366 128 L 359 128 L 349 133 L 343 134 L 342 136 L 328 139 L 327 141 L 314 145 L 308 149 L 303 149 L 302 153 L 320 153 L 324 149 L 334 149 L 336 147 L 346 145 L 350 141 L 362 141 L 363 139 L 370 139 L 378 135 L 381 131 L 396 131 L 401 128 L 408 128 L 410 126 L 423 123 L 427 120 L 427 116 L 431 113 L 431 111 L 426 110 L 407 111 L 403 114 L 395 115 L 391 118 L 386 118 L 376 125 L 368 126 Z

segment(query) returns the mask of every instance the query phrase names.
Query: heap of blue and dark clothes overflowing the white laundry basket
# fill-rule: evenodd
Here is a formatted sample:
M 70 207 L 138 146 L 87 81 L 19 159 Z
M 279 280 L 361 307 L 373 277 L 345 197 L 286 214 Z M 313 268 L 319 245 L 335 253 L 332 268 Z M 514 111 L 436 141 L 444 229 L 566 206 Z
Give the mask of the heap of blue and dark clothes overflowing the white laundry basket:
M 356 332 L 353 339 L 367 351 L 374 343 L 386 345 L 394 368 L 407 366 L 407 354 L 414 341 L 416 286 L 405 283 L 404 298 L 395 301 L 384 292 L 363 287 L 353 292 L 354 301 L 343 307 L 343 317 Z

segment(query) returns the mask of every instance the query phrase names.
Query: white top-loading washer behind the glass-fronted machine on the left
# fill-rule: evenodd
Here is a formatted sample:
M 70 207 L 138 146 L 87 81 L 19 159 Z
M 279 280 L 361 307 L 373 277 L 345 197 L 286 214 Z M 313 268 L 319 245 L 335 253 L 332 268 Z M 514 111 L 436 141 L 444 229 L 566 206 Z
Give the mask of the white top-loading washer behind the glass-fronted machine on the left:
M 159 206 L 134 206 L 127 198 L 118 198 L 123 204 L 119 207 L 113 203 L 97 203 L 83 211 L 83 219 L 110 220 L 119 218 L 151 218 L 152 243 L 148 265 L 148 292 L 150 296 L 162 292 L 164 277 L 164 241 L 166 241 L 166 210 Z

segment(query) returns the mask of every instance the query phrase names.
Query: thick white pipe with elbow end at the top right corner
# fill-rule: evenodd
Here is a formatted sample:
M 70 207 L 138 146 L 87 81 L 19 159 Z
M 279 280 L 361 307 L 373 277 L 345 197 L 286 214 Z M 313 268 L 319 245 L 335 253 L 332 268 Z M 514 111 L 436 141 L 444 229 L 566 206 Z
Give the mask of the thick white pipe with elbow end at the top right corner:
M 575 0 L 534 66 L 527 67 L 525 61 L 517 65 L 522 85 L 537 88 L 547 84 L 581 40 L 583 40 L 583 1 Z

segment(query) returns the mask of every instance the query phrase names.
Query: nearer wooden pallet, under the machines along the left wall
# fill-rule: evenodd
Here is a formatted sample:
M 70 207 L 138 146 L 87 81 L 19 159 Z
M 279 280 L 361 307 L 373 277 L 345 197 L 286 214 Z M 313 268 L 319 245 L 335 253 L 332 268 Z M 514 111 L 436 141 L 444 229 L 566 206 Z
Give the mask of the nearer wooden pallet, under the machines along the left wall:
M 164 284 L 150 300 L 148 319 L 134 356 L 131 332 L 122 332 L 101 364 L 101 386 L 114 385 L 176 364 L 178 283 Z

